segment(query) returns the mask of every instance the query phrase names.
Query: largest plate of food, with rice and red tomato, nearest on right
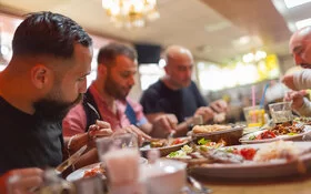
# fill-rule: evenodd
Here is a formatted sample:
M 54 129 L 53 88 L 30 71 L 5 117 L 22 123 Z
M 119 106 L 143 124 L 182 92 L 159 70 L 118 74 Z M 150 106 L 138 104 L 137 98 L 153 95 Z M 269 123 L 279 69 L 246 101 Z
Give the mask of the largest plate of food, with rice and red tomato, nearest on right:
M 194 152 L 205 162 L 192 165 L 191 172 L 211 178 L 272 178 L 305 173 L 311 167 L 309 142 L 281 140 Z M 194 152 L 187 155 L 193 157 Z

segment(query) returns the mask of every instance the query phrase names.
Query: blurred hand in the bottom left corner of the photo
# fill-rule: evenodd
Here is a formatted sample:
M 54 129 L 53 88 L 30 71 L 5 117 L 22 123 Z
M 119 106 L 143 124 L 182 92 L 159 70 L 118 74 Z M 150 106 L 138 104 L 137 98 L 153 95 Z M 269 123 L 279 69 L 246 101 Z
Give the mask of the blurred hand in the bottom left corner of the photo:
M 22 194 L 32 193 L 39 187 L 43 171 L 37 167 L 12 170 L 0 176 L 0 193 Z

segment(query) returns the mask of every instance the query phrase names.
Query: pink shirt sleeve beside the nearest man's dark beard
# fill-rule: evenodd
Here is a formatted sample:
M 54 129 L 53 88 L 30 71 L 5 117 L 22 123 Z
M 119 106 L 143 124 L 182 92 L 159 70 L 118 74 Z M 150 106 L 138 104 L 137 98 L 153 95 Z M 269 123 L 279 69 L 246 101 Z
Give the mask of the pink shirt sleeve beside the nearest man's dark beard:
M 84 133 L 87 127 L 87 115 L 82 104 L 73 106 L 62 120 L 63 136 L 72 136 Z

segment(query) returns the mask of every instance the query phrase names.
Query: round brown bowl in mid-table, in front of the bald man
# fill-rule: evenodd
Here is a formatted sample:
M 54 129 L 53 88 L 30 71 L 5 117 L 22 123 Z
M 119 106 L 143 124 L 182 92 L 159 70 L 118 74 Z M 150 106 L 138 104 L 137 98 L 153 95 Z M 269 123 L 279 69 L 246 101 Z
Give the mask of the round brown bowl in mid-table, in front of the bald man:
M 243 125 L 237 125 L 229 130 L 210 133 L 192 133 L 191 135 L 194 143 L 198 143 L 200 139 L 204 137 L 205 140 L 211 140 L 212 142 L 219 142 L 220 140 L 223 140 L 227 145 L 239 145 L 239 140 L 242 137 L 243 129 Z

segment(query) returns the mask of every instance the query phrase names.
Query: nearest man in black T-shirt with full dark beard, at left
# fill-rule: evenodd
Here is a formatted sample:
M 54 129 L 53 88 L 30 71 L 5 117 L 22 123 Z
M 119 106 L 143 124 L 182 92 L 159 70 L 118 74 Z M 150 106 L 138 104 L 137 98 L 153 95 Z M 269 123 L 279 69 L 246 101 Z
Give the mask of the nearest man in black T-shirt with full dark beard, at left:
M 73 20 L 37 12 L 17 28 L 12 50 L 0 73 L 0 193 L 11 175 L 12 193 L 29 193 L 41 169 L 63 161 L 61 120 L 87 91 L 92 40 Z

